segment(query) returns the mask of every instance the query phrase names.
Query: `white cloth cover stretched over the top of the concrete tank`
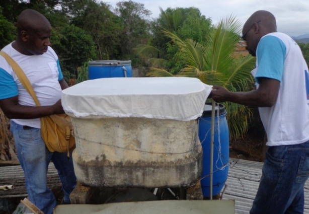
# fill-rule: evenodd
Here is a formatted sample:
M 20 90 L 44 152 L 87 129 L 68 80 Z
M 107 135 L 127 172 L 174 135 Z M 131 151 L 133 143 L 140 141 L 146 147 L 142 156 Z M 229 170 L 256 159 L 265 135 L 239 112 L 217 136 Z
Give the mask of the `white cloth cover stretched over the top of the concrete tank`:
M 189 121 L 203 113 L 212 86 L 199 79 L 102 78 L 62 91 L 62 106 L 75 117 L 144 117 Z

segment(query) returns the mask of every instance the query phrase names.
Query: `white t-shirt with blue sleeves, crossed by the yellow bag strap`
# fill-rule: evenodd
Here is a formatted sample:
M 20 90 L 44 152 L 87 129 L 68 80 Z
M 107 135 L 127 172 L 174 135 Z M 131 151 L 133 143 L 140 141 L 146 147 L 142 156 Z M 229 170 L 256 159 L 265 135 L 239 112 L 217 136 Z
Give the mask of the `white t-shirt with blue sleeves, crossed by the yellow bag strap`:
M 51 47 L 42 55 L 24 55 L 12 47 L 12 43 L 2 49 L 23 69 L 28 77 L 41 106 L 55 104 L 61 99 L 59 80 L 63 79 L 59 60 Z M 34 100 L 17 78 L 6 59 L 0 56 L 0 99 L 18 95 L 20 105 L 36 106 Z M 20 125 L 40 128 L 40 119 L 13 119 Z

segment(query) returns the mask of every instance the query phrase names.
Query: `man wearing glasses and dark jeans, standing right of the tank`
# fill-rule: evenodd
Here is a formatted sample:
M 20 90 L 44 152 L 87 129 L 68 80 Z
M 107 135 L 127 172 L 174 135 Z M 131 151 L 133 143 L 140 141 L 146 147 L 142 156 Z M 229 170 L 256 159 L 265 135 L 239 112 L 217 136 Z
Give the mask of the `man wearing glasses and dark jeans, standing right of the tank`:
M 277 32 L 276 19 L 267 11 L 248 19 L 242 38 L 257 57 L 251 72 L 256 90 L 233 93 L 213 86 L 210 97 L 259 107 L 268 149 L 250 213 L 303 213 L 309 176 L 308 67 L 296 42 Z

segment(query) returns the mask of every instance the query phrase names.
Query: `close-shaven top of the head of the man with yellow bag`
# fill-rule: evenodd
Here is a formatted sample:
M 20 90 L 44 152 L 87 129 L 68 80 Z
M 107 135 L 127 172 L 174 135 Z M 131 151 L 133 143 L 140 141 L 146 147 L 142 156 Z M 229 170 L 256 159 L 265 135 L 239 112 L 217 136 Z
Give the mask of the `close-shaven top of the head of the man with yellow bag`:
M 50 30 L 51 26 L 48 20 L 39 12 L 31 9 L 24 10 L 17 19 L 17 31 L 28 33 L 37 33 Z

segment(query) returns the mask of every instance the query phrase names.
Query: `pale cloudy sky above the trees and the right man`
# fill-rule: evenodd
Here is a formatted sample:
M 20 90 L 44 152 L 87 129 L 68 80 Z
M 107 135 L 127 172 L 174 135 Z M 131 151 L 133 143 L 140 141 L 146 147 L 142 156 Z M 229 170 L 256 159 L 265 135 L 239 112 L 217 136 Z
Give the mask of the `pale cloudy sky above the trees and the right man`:
M 101 0 L 116 6 L 120 0 Z M 128 0 L 125 0 L 128 1 Z M 213 24 L 234 15 L 242 24 L 258 10 L 271 12 L 277 21 L 277 31 L 289 36 L 309 34 L 309 0 L 132 0 L 151 11 L 150 18 L 158 18 L 160 7 L 198 8 Z

